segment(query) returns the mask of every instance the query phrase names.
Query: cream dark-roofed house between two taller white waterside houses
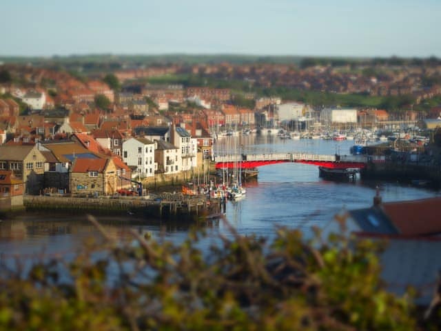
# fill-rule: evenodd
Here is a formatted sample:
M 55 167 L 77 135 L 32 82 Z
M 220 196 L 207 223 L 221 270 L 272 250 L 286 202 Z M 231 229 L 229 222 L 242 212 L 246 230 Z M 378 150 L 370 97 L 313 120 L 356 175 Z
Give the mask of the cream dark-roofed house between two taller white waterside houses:
M 154 160 L 156 172 L 160 174 L 176 174 L 182 170 L 182 159 L 178 148 L 167 141 L 157 140 L 155 143 Z

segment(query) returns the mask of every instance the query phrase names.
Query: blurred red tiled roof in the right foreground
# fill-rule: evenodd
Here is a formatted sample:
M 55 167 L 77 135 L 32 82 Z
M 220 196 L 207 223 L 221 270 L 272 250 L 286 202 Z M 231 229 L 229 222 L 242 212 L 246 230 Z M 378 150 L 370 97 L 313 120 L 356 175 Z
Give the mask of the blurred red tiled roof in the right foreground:
M 382 208 L 404 236 L 441 233 L 441 198 L 383 203 Z

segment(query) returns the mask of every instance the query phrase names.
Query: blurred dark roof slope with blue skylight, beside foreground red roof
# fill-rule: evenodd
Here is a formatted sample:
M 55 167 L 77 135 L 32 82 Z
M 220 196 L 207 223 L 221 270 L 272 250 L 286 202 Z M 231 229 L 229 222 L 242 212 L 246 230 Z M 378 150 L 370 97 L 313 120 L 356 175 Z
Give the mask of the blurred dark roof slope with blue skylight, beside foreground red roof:
M 398 234 L 398 230 L 391 223 L 381 208 L 371 207 L 349 211 L 352 219 L 358 224 L 362 232 L 378 234 Z

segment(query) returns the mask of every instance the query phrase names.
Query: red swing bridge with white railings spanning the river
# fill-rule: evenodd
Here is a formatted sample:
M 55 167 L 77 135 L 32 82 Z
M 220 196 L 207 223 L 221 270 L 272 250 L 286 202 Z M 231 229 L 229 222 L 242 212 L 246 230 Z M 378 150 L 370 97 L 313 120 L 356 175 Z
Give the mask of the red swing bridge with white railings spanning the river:
M 365 155 L 271 153 L 271 154 L 228 154 L 214 157 L 216 169 L 242 168 L 252 169 L 262 165 L 297 162 L 318 165 L 328 169 L 363 169 L 367 163 Z

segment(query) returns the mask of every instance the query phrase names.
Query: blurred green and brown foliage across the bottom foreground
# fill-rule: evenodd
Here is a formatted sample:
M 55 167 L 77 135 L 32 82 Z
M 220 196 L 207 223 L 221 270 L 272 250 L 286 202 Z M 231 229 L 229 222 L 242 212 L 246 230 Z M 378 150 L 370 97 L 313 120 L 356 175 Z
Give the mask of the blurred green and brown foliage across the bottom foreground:
M 384 290 L 370 241 L 318 245 L 279 228 L 267 243 L 226 223 L 230 235 L 203 252 L 202 232 L 175 245 L 132 231 L 121 243 L 91 221 L 105 241 L 86 242 L 74 261 L 34 263 L 27 275 L 0 268 L 0 330 L 418 327 L 410 298 Z

